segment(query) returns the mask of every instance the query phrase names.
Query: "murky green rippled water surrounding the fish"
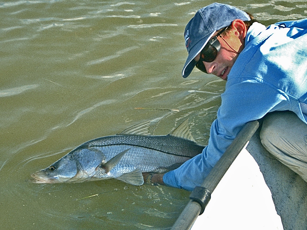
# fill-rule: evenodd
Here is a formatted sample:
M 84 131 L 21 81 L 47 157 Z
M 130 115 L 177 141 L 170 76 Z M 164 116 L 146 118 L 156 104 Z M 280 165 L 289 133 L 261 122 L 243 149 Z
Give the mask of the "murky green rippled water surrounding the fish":
M 27 180 L 87 140 L 157 117 L 154 134 L 189 117 L 194 138 L 206 144 L 225 82 L 199 71 L 183 79 L 181 70 L 185 25 L 212 2 L 0 2 L 0 229 L 172 226 L 186 191 Z M 307 17 L 305 1 L 219 2 L 265 25 Z

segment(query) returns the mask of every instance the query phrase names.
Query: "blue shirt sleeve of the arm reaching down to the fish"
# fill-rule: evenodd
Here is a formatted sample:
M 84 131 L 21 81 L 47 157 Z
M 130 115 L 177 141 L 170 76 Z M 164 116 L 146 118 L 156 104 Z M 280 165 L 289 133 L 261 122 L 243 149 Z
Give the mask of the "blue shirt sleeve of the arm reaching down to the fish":
M 257 80 L 226 85 L 221 97 L 222 104 L 212 123 L 208 146 L 181 167 L 165 173 L 163 182 L 166 185 L 190 191 L 200 186 L 248 121 L 262 118 L 274 108 L 284 110 L 282 106 L 287 101 L 282 92 Z

